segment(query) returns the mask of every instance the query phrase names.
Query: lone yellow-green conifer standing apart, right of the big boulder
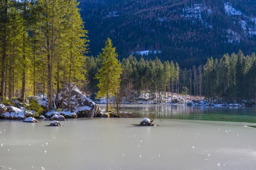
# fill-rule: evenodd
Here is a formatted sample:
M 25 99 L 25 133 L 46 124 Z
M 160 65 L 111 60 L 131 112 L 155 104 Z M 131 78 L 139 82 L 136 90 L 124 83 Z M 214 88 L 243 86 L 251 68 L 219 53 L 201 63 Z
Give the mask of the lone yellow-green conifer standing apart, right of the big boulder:
M 98 87 L 100 88 L 97 97 L 107 97 L 106 109 L 108 111 L 108 97 L 118 93 L 120 75 L 122 74 L 121 64 L 116 59 L 116 48 L 113 47 L 110 38 L 107 39 L 105 48 L 102 49 L 102 53 L 98 57 L 101 68 L 96 74 L 96 78 L 99 79 Z

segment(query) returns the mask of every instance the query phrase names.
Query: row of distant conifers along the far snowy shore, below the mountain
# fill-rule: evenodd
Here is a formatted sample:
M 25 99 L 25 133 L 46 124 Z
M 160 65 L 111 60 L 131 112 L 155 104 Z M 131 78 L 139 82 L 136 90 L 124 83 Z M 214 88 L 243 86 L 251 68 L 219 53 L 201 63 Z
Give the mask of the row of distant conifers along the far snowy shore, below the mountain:
M 95 95 L 99 90 L 94 78 L 99 70 L 99 59 L 87 59 L 87 91 Z M 208 58 L 207 63 L 192 68 L 181 69 L 173 61 L 161 62 L 160 59 L 137 60 L 130 55 L 122 60 L 120 93 L 133 96 L 137 101 L 144 91 L 155 102 L 166 102 L 165 97 L 184 93 L 205 96 L 209 101 L 240 102 L 242 99 L 254 100 L 256 97 L 256 57 L 224 54 L 221 59 Z

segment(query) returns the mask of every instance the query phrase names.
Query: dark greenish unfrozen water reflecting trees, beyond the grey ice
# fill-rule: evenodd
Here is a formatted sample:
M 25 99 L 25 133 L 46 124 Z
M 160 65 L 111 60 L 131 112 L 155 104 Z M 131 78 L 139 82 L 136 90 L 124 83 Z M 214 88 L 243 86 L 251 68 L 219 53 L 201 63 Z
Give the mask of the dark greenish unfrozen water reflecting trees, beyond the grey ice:
M 104 108 L 105 104 L 98 104 Z M 122 111 L 157 113 L 160 119 L 213 120 L 256 123 L 256 107 L 188 106 L 188 105 L 121 105 Z

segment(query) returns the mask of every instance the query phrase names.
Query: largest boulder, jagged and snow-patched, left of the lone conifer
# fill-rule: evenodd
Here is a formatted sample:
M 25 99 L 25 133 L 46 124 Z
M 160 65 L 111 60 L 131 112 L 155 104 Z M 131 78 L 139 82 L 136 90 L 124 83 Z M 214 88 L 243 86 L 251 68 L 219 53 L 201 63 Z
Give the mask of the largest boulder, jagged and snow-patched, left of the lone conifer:
M 56 95 L 55 105 L 57 108 L 66 109 L 68 103 L 68 92 L 69 92 L 69 83 L 66 83 L 63 90 Z M 71 83 L 71 110 L 75 112 L 78 117 L 96 117 L 99 116 L 101 110 L 95 102 L 91 99 L 88 99 L 84 94 L 82 94 L 74 83 Z

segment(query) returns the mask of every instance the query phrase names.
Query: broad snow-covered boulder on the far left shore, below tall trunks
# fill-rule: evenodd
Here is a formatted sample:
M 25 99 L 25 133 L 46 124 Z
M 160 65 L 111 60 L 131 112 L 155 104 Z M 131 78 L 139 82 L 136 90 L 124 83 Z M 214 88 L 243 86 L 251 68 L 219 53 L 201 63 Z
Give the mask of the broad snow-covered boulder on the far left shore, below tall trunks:
M 3 119 L 24 119 L 25 113 L 19 108 L 8 106 L 5 113 L 2 115 Z

